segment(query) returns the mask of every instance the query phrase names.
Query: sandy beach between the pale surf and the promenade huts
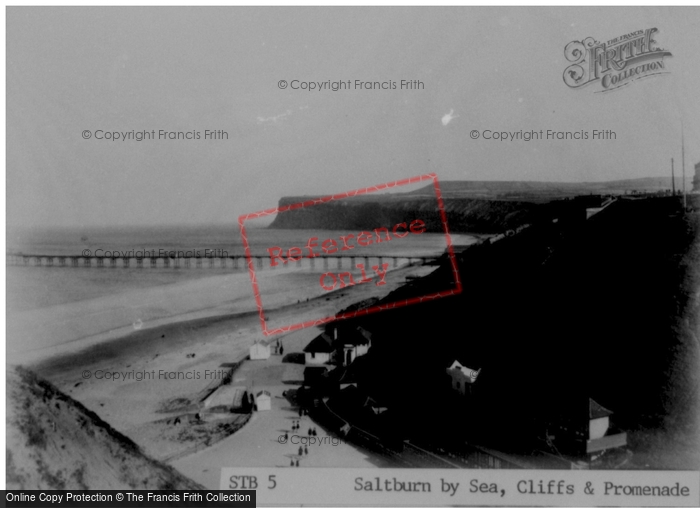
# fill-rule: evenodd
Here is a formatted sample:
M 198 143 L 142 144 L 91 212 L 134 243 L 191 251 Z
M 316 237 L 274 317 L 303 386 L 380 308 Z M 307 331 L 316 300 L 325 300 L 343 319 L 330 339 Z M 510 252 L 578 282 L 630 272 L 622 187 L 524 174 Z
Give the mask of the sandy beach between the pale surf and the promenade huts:
M 357 301 L 387 294 L 399 287 L 407 275 L 431 269 L 405 267 L 389 273 L 385 286 L 346 288 L 337 291 L 333 298 L 323 295 L 278 307 L 271 315 L 293 316 L 297 320 L 330 316 Z M 255 341 L 270 340 L 263 335 L 252 306 L 236 315 L 187 319 L 190 316 L 177 316 L 169 323 L 153 324 L 115 339 L 101 334 L 88 341 L 62 344 L 51 348 L 61 354 L 47 355 L 42 351 L 41 359 L 30 367 L 134 439 L 147 453 L 161 456 L 157 442 L 139 439 L 142 426 L 178 415 L 177 410 L 164 412 L 172 401 L 181 401 L 183 408 L 202 402 L 208 390 L 221 384 L 220 372 L 244 360 Z M 311 340 L 320 332 L 311 327 L 287 335 L 299 333 Z M 283 344 L 287 335 L 279 336 Z M 151 446 L 154 448 L 149 449 Z

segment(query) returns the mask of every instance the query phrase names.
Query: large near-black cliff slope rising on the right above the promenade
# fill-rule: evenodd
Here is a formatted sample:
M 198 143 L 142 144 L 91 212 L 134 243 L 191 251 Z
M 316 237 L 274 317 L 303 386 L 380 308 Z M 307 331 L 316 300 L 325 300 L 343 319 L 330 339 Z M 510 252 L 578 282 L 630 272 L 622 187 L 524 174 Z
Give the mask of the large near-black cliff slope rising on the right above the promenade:
M 588 221 L 470 248 L 459 256 L 460 296 L 364 318 L 376 338 L 363 386 L 406 435 L 501 444 L 590 396 L 636 451 L 635 436 L 665 436 L 657 466 L 697 467 L 698 232 L 698 213 L 678 200 L 621 200 Z M 448 278 L 441 268 L 389 299 Z M 483 369 L 463 418 L 441 398 L 455 358 Z

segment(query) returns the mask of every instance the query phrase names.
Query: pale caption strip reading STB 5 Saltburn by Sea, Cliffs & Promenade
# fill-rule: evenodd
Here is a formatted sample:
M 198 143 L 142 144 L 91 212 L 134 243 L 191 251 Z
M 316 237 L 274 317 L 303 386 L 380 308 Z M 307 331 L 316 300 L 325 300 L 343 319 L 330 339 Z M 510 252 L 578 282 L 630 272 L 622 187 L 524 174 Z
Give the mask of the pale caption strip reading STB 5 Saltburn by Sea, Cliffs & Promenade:
M 223 468 L 260 506 L 698 506 L 697 471 Z

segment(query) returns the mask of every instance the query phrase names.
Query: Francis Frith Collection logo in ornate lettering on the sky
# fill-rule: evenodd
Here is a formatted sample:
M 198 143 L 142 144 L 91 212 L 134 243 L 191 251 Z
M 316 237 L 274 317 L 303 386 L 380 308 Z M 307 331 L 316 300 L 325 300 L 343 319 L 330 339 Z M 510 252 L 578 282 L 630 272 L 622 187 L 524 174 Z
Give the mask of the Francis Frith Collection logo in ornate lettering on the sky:
M 656 28 L 637 30 L 601 43 L 588 37 L 571 41 L 564 55 L 572 62 L 564 71 L 564 83 L 571 88 L 599 82 L 599 92 L 609 92 L 637 79 L 668 73 L 665 56 L 669 51 L 654 40 Z

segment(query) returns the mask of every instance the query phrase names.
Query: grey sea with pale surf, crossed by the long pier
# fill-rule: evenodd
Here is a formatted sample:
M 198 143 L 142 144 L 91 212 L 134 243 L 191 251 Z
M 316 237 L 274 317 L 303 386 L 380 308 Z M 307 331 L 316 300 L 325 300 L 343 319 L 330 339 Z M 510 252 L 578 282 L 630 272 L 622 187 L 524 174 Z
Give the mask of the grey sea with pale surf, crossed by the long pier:
M 105 257 L 149 257 L 175 252 L 179 257 L 195 253 L 194 256 L 218 258 L 243 256 L 247 242 L 251 255 L 268 256 L 268 249 L 274 247 L 284 252 L 298 247 L 306 252 L 310 240 L 320 253 L 325 240 L 334 239 L 340 245 L 340 236 L 349 234 L 357 236 L 359 231 L 250 228 L 244 240 L 238 225 L 35 229 L 8 233 L 7 252 Z M 370 264 L 375 264 L 379 256 L 405 256 L 397 260 L 396 266 L 393 261 L 390 263 L 393 269 L 408 263 L 410 257 L 439 256 L 447 246 L 446 236 L 439 233 L 410 233 L 389 241 L 383 238 L 384 241 L 368 246 L 355 244 L 349 252 L 358 258 L 369 258 Z M 453 235 L 451 241 L 463 246 L 478 239 Z M 90 254 L 86 254 L 88 251 Z M 341 261 L 343 270 L 354 269 L 349 258 Z M 319 274 L 340 268 L 335 260 L 328 265 L 312 265 L 309 259 L 278 269 L 264 264 L 256 273 L 263 304 L 266 308 L 282 306 L 324 294 L 319 287 Z M 256 269 L 258 266 L 256 263 Z M 242 259 L 237 268 L 231 262 L 222 267 L 218 261 L 213 266 L 208 262 L 191 263 L 189 267 L 181 263 L 179 268 L 172 264 L 152 268 L 150 263 L 139 267 L 133 262 L 126 268 L 110 267 L 109 263 L 102 267 L 96 263 L 91 267 L 73 267 L 70 263 L 9 264 L 6 276 L 8 350 L 35 350 L 117 333 L 124 327 L 256 309 L 250 274 Z

